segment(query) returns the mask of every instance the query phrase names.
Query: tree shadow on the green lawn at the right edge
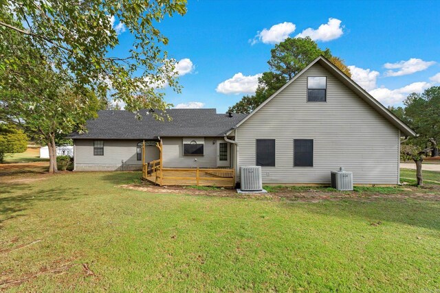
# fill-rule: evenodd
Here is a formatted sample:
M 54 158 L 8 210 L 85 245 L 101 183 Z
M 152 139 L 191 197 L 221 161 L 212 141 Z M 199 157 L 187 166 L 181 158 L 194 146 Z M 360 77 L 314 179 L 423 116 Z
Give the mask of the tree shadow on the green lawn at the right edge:
M 286 204 L 285 207 L 292 207 Z M 344 219 L 364 220 L 366 224 L 395 222 L 440 230 L 440 202 L 413 199 L 341 200 L 295 205 L 307 213 Z

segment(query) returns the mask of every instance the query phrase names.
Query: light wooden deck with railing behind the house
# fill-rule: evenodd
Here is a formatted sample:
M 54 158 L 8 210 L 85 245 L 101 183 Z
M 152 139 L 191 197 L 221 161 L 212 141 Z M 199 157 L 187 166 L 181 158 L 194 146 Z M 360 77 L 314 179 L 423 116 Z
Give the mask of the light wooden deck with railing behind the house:
M 234 169 L 166 168 L 162 165 L 162 141 L 157 143 L 160 159 L 145 163 L 145 143 L 142 145 L 142 177 L 155 185 L 234 187 Z

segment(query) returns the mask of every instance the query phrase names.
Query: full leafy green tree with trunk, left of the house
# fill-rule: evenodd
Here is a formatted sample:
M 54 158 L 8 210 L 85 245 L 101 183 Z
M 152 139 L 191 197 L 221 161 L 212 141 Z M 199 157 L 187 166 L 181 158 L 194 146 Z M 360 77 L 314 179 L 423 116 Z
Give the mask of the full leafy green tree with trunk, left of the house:
M 19 32 L 0 36 L 0 121 L 21 128 L 50 148 L 50 171 L 56 171 L 56 140 L 73 130 L 84 130 L 102 102 L 94 91 L 78 84 L 68 69 L 50 65 L 28 38 Z M 14 55 L 17 49 L 20 54 Z M 52 155 L 51 155 L 52 154 Z

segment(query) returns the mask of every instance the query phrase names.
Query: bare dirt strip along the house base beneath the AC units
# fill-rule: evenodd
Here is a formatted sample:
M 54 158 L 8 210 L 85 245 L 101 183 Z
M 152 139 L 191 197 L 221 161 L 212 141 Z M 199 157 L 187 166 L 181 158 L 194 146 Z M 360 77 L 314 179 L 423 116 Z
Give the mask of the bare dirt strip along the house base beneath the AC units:
M 133 189 L 137 191 L 145 191 L 151 194 L 188 194 L 191 196 L 217 196 L 230 198 L 255 198 L 261 200 L 273 201 L 300 201 L 300 202 L 320 202 L 322 200 L 375 200 L 380 198 L 395 199 L 417 199 L 417 200 L 440 200 L 440 186 L 426 185 L 420 187 L 396 187 L 384 191 L 375 187 L 368 190 L 360 191 L 334 191 L 325 188 L 310 187 L 301 189 L 292 189 L 291 187 L 278 187 L 274 192 L 267 194 L 237 194 L 235 189 L 197 189 L 190 187 L 168 186 L 159 187 L 149 183 L 118 185 L 118 187 Z M 391 187 L 392 188 L 392 187 Z

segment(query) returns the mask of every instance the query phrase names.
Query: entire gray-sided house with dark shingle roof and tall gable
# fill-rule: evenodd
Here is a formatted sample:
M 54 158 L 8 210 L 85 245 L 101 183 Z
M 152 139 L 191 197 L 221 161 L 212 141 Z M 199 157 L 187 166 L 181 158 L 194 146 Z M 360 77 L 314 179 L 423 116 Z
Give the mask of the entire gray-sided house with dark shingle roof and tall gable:
M 144 111 L 145 112 L 145 111 Z M 72 134 L 75 170 L 142 167 L 140 143 L 162 140 L 164 167 L 260 165 L 265 184 L 329 184 L 330 171 L 358 185 L 399 183 L 401 137 L 415 132 L 324 57 L 311 62 L 250 115 L 171 109 L 173 121 L 100 111 Z M 154 146 L 146 161 L 158 159 Z

